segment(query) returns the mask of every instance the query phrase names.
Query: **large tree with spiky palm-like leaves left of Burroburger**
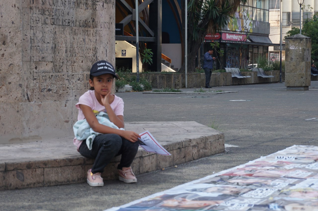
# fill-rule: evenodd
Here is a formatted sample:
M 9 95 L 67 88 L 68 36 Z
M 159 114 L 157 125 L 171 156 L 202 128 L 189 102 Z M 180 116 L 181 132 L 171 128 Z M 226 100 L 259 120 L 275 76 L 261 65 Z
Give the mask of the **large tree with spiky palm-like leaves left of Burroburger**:
M 188 1 L 188 72 L 194 72 L 197 51 L 206 34 L 225 27 L 239 4 L 247 0 L 187 0 Z M 183 1 L 181 1 L 183 3 Z M 179 72 L 184 73 L 183 63 Z

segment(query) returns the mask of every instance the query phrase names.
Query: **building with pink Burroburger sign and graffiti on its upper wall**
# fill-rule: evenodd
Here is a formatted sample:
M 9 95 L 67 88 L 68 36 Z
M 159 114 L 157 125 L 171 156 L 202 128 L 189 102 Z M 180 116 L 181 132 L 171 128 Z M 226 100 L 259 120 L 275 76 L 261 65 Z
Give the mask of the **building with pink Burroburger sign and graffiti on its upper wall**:
M 215 35 L 205 37 L 204 50 L 211 42 L 219 42 L 224 56 L 219 56 L 217 69 L 224 67 L 247 69 L 257 63 L 259 56 L 268 56 L 269 39 L 269 0 L 249 0 L 240 5 L 227 27 Z M 218 51 L 216 49 L 215 51 Z

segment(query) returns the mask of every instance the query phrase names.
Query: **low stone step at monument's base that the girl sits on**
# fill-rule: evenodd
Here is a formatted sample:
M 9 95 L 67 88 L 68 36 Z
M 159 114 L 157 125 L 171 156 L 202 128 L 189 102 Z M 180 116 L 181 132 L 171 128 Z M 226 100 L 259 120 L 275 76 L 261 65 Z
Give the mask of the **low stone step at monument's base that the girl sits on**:
M 171 156 L 139 148 L 132 164 L 136 175 L 224 152 L 223 133 L 197 122 L 129 122 L 127 130 L 149 130 Z M 118 179 L 115 157 L 105 168 L 104 180 Z M 73 137 L 0 145 L 0 190 L 86 182 L 94 160 L 81 156 Z

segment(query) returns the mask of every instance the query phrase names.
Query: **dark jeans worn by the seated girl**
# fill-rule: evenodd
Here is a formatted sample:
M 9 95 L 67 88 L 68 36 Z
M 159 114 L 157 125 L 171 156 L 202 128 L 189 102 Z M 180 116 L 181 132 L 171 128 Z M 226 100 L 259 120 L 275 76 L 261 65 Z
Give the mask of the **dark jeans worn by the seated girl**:
M 116 134 L 97 135 L 92 144 L 92 150 L 86 145 L 86 140 L 79 146 L 79 153 L 87 158 L 95 159 L 92 173 L 102 173 L 113 157 L 121 155 L 118 169 L 129 167 L 133 162 L 137 151 L 138 142 L 130 142 Z

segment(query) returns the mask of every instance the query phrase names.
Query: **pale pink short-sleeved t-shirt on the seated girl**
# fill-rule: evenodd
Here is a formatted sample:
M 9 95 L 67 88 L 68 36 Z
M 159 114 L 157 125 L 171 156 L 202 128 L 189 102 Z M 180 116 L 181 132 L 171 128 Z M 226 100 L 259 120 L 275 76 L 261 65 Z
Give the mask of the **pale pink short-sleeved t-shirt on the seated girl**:
M 114 110 L 114 113 L 118 115 L 124 115 L 124 102 L 120 97 L 114 95 L 114 101 L 110 104 L 110 107 Z M 101 105 L 95 96 L 94 90 L 88 90 L 82 96 L 79 97 L 79 102 L 75 105 L 77 109 L 79 109 L 79 115 L 77 116 L 77 120 L 85 119 L 82 109 L 80 109 L 79 105 L 83 104 L 92 108 L 92 110 L 96 110 L 98 112 L 103 111 L 106 112 L 106 108 L 104 105 Z M 77 148 L 81 145 L 82 141 L 74 138 L 73 143 Z

